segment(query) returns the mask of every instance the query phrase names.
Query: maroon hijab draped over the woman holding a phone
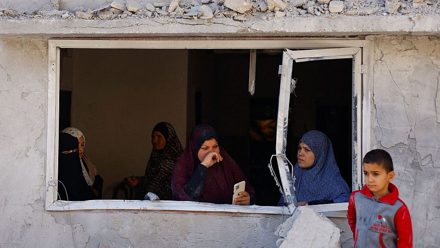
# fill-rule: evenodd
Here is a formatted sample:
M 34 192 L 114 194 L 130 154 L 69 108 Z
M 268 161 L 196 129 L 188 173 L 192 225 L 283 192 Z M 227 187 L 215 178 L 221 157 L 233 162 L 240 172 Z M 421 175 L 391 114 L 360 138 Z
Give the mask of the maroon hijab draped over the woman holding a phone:
M 198 125 L 191 133 L 191 138 L 188 140 L 185 150 L 183 150 L 173 170 L 173 197 L 176 200 L 195 201 L 188 197 L 183 187 L 194 175 L 200 164 L 198 150 L 203 142 L 211 138 L 215 138 L 219 142 L 216 132 L 209 125 Z M 220 144 L 219 148 L 223 160 L 208 168 L 203 191 L 198 201 L 231 204 L 234 184 L 241 181 L 246 181 L 245 191 L 255 193 L 254 188 L 249 184 L 238 164 Z

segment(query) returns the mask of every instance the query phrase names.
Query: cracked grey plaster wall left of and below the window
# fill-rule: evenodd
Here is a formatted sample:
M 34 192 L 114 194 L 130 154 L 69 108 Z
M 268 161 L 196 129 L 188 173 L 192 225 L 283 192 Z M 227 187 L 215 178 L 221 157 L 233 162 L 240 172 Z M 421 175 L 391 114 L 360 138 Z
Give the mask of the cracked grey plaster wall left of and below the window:
M 73 247 L 64 212 L 44 210 L 47 39 L 0 38 L 0 247 Z M 77 247 L 275 246 L 280 215 L 72 211 Z M 286 216 L 284 217 L 286 218 Z

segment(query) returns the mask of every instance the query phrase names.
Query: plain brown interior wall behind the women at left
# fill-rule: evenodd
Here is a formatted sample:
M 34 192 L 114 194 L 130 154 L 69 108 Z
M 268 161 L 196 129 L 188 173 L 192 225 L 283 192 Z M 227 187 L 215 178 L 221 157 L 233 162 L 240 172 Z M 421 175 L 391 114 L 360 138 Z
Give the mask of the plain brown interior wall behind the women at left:
M 144 175 L 157 122 L 173 124 L 185 146 L 187 50 L 75 49 L 70 60 L 71 124 L 86 135 L 85 153 L 111 199 L 124 177 Z

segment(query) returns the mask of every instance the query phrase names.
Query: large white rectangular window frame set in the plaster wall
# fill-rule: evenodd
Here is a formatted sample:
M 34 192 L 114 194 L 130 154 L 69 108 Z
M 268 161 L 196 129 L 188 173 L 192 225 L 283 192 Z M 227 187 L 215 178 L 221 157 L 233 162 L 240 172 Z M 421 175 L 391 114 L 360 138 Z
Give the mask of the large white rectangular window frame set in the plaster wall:
M 358 143 L 353 151 L 356 165 L 361 165 L 363 155 L 371 149 L 371 81 L 373 68 L 373 42 L 360 39 L 294 39 L 294 38 L 170 38 L 145 40 L 49 40 L 48 42 L 48 87 L 47 87 L 47 144 L 46 144 L 46 177 L 45 209 L 50 211 L 70 210 L 176 210 L 207 212 L 238 212 L 257 214 L 289 214 L 288 207 L 277 206 L 237 206 L 229 204 L 177 202 L 177 201 L 126 201 L 126 200 L 93 200 L 70 202 L 57 200 L 56 179 L 58 178 L 58 122 L 59 122 L 59 89 L 60 89 L 60 49 L 61 48 L 136 48 L 136 49 L 322 49 L 358 47 L 362 51 L 363 74 L 361 68 L 354 67 L 353 78 L 356 89 L 355 98 L 361 105 L 356 123 Z M 280 62 L 281 63 L 281 62 Z M 368 70 L 367 70 L 368 68 Z M 256 82 L 258 86 L 258 82 Z M 359 156 L 361 155 L 361 156 Z M 268 160 L 270 158 L 267 158 Z M 269 173 L 269 172 L 267 172 Z M 352 189 L 362 184 L 361 166 L 353 167 Z M 271 183 L 271 182 L 268 182 Z M 273 182 L 275 183 L 275 182 Z M 309 206 L 327 216 L 345 217 L 348 203 L 333 203 Z

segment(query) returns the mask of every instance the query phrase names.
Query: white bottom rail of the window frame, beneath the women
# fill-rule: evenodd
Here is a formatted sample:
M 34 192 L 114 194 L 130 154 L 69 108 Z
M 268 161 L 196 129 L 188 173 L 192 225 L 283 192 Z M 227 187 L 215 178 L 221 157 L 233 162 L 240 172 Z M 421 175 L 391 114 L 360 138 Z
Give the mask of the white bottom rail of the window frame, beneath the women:
M 346 217 L 348 203 L 333 203 L 307 206 L 327 217 Z M 171 211 L 202 211 L 231 212 L 254 214 L 289 215 L 287 207 L 279 206 L 240 206 L 230 204 L 180 202 L 180 201 L 136 201 L 136 200 L 91 200 L 84 202 L 55 201 L 46 208 L 48 211 L 64 210 L 171 210 Z

